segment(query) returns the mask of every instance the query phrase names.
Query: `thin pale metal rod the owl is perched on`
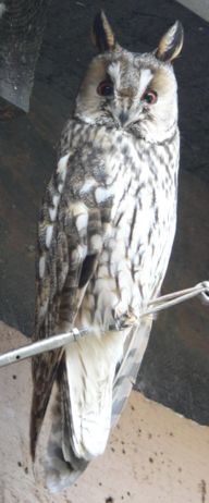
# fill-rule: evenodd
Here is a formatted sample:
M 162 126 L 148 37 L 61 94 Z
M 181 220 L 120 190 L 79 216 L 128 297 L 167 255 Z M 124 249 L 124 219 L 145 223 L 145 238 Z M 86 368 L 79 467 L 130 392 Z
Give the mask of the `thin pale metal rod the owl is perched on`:
M 193 286 L 192 289 L 182 290 L 180 292 L 173 292 L 168 295 L 155 298 L 148 303 L 148 309 L 142 312 L 140 318 L 161 311 L 169 307 L 175 306 L 176 304 L 188 300 L 196 295 L 201 295 L 205 304 L 209 305 L 209 282 L 204 281 L 202 283 Z M 118 330 L 116 327 L 111 327 L 111 330 Z M 4 367 L 10 364 L 21 361 L 25 358 L 52 351 L 58 347 L 62 347 L 73 341 L 77 341 L 83 336 L 91 336 L 91 332 L 87 329 L 73 329 L 71 332 L 61 333 L 59 335 L 52 335 L 48 339 L 27 344 L 26 346 L 19 347 L 19 349 L 12 349 L 3 355 L 0 355 L 0 367 Z

